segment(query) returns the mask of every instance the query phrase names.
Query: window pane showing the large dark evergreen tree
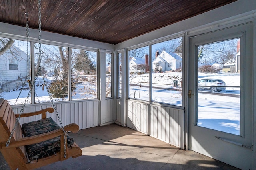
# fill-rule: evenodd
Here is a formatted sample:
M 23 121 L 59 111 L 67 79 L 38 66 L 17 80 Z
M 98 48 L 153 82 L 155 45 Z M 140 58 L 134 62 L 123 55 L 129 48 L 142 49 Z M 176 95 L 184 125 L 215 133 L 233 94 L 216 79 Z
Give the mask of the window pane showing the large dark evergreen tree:
M 97 98 L 97 52 L 71 49 L 72 100 Z

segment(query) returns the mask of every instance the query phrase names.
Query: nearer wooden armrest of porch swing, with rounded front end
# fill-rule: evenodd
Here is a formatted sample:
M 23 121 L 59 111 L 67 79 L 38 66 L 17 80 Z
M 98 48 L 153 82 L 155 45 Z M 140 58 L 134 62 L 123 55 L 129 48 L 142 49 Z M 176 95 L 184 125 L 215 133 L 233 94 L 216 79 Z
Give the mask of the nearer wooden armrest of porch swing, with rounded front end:
M 65 131 L 71 131 L 73 133 L 77 133 L 79 131 L 79 126 L 75 123 L 71 123 L 69 125 L 66 125 L 64 127 Z M 49 139 L 52 139 L 54 137 L 58 137 L 63 135 L 63 130 L 62 128 L 60 129 L 56 129 L 54 131 L 50 131 L 47 133 L 43 133 L 40 135 L 34 135 L 31 137 L 24 137 L 24 138 L 20 138 L 20 139 L 16 139 L 15 141 L 11 141 L 10 145 L 8 147 L 20 147 L 20 146 L 24 146 L 24 145 L 31 145 L 34 143 L 39 143 L 42 141 L 46 141 Z M 6 147 L 6 142 L 2 142 L 0 145 L 0 149 L 8 149 L 8 147 Z

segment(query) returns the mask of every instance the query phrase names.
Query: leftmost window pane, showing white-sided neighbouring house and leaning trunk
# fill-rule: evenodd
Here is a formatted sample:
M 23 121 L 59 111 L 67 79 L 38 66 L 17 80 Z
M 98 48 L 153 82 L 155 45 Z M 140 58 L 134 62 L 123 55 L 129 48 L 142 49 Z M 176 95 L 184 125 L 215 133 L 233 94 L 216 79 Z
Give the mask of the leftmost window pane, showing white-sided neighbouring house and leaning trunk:
M 0 49 L 4 45 L 10 48 L 0 55 L 0 97 L 12 105 L 23 88 L 16 104 L 24 104 L 29 91 L 26 76 L 30 74 L 30 43 L 27 48 L 26 41 L 0 37 Z M 31 98 L 27 103 L 31 103 Z

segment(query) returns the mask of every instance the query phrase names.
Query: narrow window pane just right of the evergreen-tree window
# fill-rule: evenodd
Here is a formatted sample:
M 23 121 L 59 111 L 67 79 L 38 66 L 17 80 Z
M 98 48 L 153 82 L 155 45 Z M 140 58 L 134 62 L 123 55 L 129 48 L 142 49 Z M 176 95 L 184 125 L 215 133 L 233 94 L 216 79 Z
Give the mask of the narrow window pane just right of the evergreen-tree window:
M 106 98 L 112 97 L 112 54 L 106 53 Z

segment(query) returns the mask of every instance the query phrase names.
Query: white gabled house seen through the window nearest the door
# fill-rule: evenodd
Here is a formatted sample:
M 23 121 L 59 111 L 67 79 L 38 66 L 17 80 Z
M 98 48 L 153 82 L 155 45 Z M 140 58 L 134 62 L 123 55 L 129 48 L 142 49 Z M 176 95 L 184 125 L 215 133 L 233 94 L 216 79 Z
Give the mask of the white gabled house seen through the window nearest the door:
M 153 61 L 154 71 L 182 70 L 182 57 L 177 53 L 162 51 Z

